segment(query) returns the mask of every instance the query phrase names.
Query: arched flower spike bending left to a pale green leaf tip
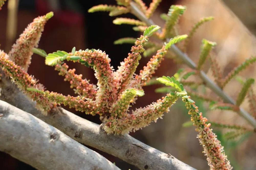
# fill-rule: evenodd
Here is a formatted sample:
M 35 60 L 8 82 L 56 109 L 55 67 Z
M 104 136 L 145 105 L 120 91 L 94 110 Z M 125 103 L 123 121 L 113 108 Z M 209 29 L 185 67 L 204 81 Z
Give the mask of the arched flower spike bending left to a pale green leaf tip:
M 91 66 L 95 70 L 95 77 L 98 79 L 98 91 L 96 101 L 100 108 L 109 108 L 109 103 L 116 99 L 116 83 L 113 80 L 113 68 L 110 66 L 110 58 L 105 52 L 95 49 L 76 51 L 73 48 L 71 53 L 58 51 L 48 54 L 45 59 L 47 65 L 54 66 L 60 61 L 80 62 L 86 66 Z

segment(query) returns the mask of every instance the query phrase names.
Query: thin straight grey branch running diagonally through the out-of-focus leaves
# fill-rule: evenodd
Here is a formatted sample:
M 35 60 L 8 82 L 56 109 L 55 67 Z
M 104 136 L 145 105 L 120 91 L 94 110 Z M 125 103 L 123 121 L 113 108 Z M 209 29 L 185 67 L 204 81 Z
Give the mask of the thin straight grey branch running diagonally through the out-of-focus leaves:
M 151 19 L 147 19 L 147 17 L 140 11 L 140 9 L 136 6 L 134 2 L 130 3 L 131 5 L 131 12 L 134 14 L 138 19 L 145 22 L 148 26 L 155 25 L 155 23 Z M 161 33 L 161 30 L 158 30 Z M 169 42 L 169 40 L 167 40 Z M 177 46 L 172 45 L 170 48 L 180 59 L 182 59 L 188 67 L 192 69 L 196 69 L 196 64 L 188 57 L 187 54 L 183 53 Z M 236 104 L 236 102 L 228 96 L 222 89 L 215 84 L 203 71 L 200 71 L 201 79 L 206 83 L 206 85 L 214 91 L 218 96 L 220 96 L 224 102 Z M 255 129 L 256 129 L 256 120 L 243 108 L 240 107 L 239 112 L 240 115 L 246 119 Z

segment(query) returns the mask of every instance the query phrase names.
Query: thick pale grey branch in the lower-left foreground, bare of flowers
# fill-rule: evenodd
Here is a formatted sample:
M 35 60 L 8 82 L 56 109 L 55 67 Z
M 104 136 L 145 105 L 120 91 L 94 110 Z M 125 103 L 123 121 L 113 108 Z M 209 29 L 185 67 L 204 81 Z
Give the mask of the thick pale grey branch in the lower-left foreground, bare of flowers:
M 119 169 L 37 117 L 0 100 L 0 150 L 37 169 Z

